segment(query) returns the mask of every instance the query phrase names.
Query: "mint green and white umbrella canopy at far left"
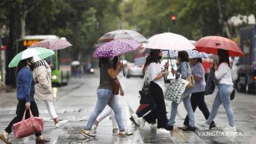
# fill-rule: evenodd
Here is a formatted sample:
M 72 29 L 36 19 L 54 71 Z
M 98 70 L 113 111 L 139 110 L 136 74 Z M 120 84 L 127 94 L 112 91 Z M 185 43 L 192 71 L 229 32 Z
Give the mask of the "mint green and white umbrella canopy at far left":
M 54 54 L 54 51 L 50 49 L 45 49 L 42 47 L 36 47 L 35 49 L 28 48 L 22 52 L 19 52 L 12 61 L 9 63 L 8 67 L 17 67 L 20 60 L 25 60 L 27 58 L 35 57 L 36 60 L 38 60 L 38 57 L 40 59 L 48 58 L 49 56 L 52 56 Z

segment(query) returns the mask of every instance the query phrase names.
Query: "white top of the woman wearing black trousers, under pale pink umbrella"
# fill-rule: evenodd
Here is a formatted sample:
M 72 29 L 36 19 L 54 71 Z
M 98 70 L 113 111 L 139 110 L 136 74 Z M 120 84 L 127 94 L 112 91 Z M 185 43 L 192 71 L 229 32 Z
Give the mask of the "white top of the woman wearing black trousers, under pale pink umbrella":
M 150 65 L 148 65 L 148 80 L 153 81 L 153 79 L 155 79 L 157 75 L 162 72 L 163 67 L 161 63 L 150 63 Z M 154 81 L 154 83 L 158 84 L 164 92 L 164 77 L 162 77 L 161 79 L 157 79 L 156 81 Z

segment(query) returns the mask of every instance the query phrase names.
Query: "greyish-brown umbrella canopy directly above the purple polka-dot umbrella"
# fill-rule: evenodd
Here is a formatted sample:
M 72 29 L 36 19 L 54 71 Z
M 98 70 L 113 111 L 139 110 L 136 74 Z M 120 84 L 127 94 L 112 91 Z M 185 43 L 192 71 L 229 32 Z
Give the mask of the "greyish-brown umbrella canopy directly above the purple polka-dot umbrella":
M 137 31 L 132 30 L 116 30 L 111 31 L 109 33 L 106 33 L 105 35 L 101 36 L 99 40 L 97 40 L 96 44 L 93 47 L 99 47 L 102 44 L 105 44 L 106 42 L 110 42 L 112 40 L 136 40 L 138 42 L 147 42 L 147 38 L 145 36 L 141 35 Z

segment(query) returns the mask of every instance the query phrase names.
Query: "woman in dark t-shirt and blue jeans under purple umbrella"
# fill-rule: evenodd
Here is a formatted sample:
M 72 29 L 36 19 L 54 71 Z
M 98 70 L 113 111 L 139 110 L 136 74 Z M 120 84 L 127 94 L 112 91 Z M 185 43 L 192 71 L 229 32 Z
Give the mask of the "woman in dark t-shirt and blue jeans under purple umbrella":
M 117 60 L 116 60 L 117 59 Z M 115 61 L 114 61 L 115 60 Z M 88 138 L 95 138 L 95 134 L 92 130 L 92 125 L 95 123 L 96 118 L 103 111 L 103 109 L 108 104 L 115 111 L 115 118 L 120 130 L 119 136 L 131 136 L 132 133 L 125 131 L 121 108 L 116 102 L 116 100 L 111 100 L 113 97 L 113 85 L 112 79 L 116 79 L 116 76 L 124 68 L 124 66 L 118 61 L 116 56 L 113 61 L 110 61 L 109 58 L 100 58 L 99 67 L 100 67 L 100 84 L 97 90 L 97 104 L 93 110 L 92 115 L 88 120 L 88 124 L 85 129 L 82 131 L 84 136 Z

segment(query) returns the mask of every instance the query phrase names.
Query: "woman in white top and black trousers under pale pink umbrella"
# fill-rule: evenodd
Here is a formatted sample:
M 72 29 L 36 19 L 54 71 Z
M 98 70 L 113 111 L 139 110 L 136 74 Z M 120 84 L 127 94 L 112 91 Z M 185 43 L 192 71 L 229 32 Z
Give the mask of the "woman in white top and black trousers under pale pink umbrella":
M 164 102 L 164 76 L 168 76 L 168 63 L 162 67 L 160 60 L 163 52 L 159 49 L 152 49 L 150 51 L 150 64 L 148 65 L 148 81 L 149 92 L 152 95 L 156 109 L 152 109 L 150 113 L 139 119 L 140 128 L 143 129 L 145 122 L 148 124 L 156 123 L 157 128 L 165 128 L 167 124 L 166 107 Z

